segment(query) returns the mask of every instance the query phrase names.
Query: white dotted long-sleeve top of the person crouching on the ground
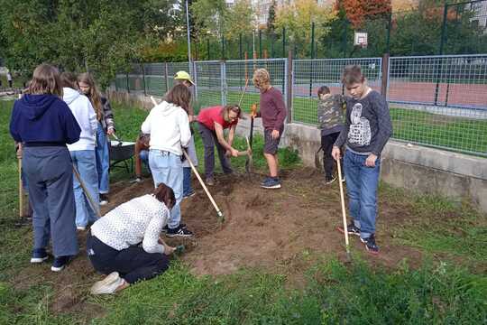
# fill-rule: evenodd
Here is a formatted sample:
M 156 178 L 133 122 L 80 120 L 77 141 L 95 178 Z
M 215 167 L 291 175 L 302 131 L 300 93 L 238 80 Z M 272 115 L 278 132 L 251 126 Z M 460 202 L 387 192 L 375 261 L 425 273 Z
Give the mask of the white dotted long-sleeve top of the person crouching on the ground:
M 91 235 L 107 246 L 123 250 L 142 242 L 147 253 L 164 253 L 158 239 L 170 210 L 152 194 L 146 194 L 108 212 L 91 226 Z

